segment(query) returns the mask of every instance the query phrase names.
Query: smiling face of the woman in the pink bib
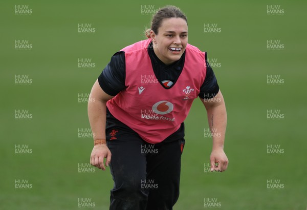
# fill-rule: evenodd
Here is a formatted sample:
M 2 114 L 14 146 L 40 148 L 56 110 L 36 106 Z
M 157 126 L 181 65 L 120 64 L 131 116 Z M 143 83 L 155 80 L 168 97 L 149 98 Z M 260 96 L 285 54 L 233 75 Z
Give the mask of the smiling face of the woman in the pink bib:
M 165 18 L 158 34 L 150 31 L 153 50 L 158 58 L 169 65 L 180 59 L 188 44 L 188 25 L 180 17 Z

